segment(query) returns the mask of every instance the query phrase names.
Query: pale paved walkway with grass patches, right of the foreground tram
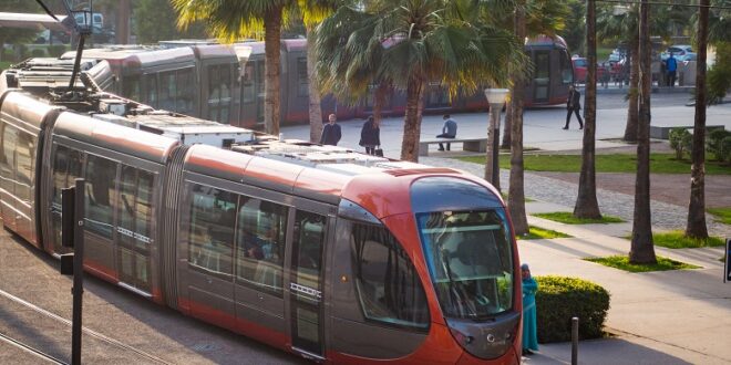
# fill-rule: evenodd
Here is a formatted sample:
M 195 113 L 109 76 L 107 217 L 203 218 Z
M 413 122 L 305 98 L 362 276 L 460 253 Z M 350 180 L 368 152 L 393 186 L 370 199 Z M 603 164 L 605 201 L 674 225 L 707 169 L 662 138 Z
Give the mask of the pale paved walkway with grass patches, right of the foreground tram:
M 429 158 L 422 163 L 471 170 L 481 176 L 480 166 L 462 165 L 454 159 Z M 476 170 L 475 170 L 476 169 Z M 501 184 L 507 186 L 507 171 Z M 540 211 L 570 211 L 576 185 L 526 173 L 528 215 Z M 598 191 L 603 212 L 619 211 L 629 196 Z M 603 198 L 604 197 L 604 198 Z M 609 197 L 609 198 L 608 198 Z M 552 202 L 554 201 L 554 202 Z M 570 205 L 570 206 L 568 206 Z M 632 205 L 629 205 L 631 209 Z M 652 202 L 657 215 L 673 215 L 677 206 Z M 612 211 L 617 209 L 618 211 Z M 625 217 L 626 218 L 626 217 Z M 631 216 L 629 217 L 631 219 Z M 627 218 L 626 218 L 627 219 Z M 569 275 L 596 282 L 611 294 L 606 331 L 611 337 L 579 344 L 583 364 L 731 364 L 731 284 L 723 284 L 722 248 L 670 250 L 656 247 L 658 255 L 692 263 L 697 270 L 629 273 L 581 260 L 587 257 L 627 254 L 630 242 L 621 237 L 631 223 L 564 225 L 536 217 L 528 222 L 557 230 L 573 238 L 519 241 L 521 260 L 534 273 Z M 728 226 L 725 226 L 728 228 Z M 540 352 L 524 357 L 526 364 L 569 364 L 570 344 L 547 344 Z

